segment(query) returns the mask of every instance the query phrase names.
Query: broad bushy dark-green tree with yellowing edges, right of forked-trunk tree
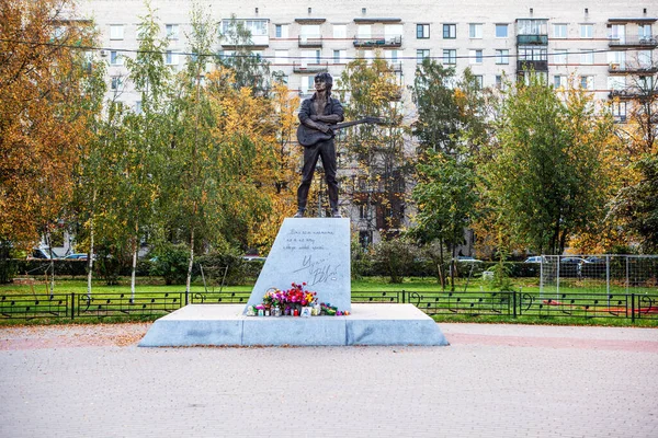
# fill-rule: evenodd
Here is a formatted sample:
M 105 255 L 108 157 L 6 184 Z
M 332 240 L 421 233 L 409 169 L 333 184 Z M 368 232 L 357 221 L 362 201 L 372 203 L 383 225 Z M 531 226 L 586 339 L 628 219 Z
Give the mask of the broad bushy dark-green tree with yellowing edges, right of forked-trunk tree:
M 612 119 L 594 112 L 583 90 L 560 99 L 537 76 L 509 84 L 491 161 L 483 166 L 497 229 L 512 243 L 561 254 L 602 211 L 611 131 Z

